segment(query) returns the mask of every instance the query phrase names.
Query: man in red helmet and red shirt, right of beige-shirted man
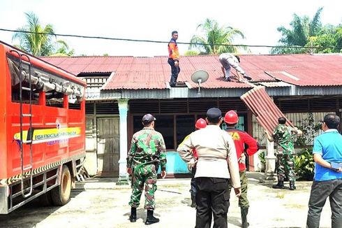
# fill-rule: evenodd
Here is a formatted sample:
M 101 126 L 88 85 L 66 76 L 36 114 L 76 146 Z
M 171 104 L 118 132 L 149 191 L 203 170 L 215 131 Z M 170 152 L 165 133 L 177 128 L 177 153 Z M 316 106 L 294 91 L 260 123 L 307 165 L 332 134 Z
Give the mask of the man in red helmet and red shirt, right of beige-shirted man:
M 237 116 L 237 113 L 235 113 L 235 111 L 228 111 L 227 113 L 225 113 L 224 121 L 228 127 L 226 131 L 228 131 L 230 136 L 232 136 L 232 139 L 235 143 L 235 148 L 237 150 L 237 159 L 239 162 L 239 174 L 241 183 L 239 207 L 241 209 L 242 227 L 248 227 L 249 224 L 247 222 L 247 214 L 249 203 L 247 199 L 246 156 L 244 155 L 244 145 L 248 145 L 246 153 L 249 156 L 254 155 L 255 152 L 258 152 L 260 146 L 258 141 L 255 140 L 255 138 L 250 136 L 245 131 L 241 131 L 235 128 L 237 122 L 239 121 L 239 117 Z

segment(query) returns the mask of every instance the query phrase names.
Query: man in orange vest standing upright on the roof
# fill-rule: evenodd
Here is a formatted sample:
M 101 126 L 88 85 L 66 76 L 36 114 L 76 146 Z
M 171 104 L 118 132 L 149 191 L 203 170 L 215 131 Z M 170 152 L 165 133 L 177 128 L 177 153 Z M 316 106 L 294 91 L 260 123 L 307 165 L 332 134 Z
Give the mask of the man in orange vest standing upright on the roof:
M 168 64 L 171 66 L 170 86 L 175 87 L 177 84 L 178 74 L 181 71 L 179 68 L 179 51 L 177 45 L 178 31 L 172 31 L 172 38 L 168 44 L 169 59 Z

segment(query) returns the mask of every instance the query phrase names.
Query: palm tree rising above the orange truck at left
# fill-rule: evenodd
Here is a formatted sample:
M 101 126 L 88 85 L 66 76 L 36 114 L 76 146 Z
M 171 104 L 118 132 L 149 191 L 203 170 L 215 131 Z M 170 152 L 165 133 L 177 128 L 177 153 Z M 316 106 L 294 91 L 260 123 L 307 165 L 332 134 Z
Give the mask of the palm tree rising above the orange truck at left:
M 17 29 L 19 31 L 13 35 L 12 40 L 19 39 L 19 47 L 32 55 L 51 55 L 54 51 L 54 45 L 52 44 L 52 36 L 47 34 L 54 34 L 52 25 L 47 24 L 45 27 L 42 27 L 34 13 L 25 13 L 25 15 L 28 24 Z

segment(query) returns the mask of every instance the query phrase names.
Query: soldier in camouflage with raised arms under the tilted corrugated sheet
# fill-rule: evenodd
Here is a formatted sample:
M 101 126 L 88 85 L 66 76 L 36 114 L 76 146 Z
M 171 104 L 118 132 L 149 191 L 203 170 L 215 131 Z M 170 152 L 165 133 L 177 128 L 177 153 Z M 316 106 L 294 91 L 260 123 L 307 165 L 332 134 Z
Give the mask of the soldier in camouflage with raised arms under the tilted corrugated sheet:
M 267 133 L 269 141 L 276 142 L 276 162 L 278 183 L 273 188 L 283 189 L 285 177 L 290 180 L 290 190 L 295 190 L 295 136 L 301 135 L 302 131 L 297 128 L 286 126 L 285 117 L 278 119 L 278 126 L 274 129 L 272 136 Z

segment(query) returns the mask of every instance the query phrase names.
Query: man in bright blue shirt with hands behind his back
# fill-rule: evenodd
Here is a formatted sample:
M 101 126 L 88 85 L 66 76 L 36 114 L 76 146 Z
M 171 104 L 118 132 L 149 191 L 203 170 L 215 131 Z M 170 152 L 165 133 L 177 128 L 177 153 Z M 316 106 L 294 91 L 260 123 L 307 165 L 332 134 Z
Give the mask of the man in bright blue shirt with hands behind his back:
M 315 176 L 308 201 L 308 228 L 320 226 L 320 213 L 327 197 L 332 209 L 332 228 L 342 227 L 342 136 L 337 131 L 339 123 L 339 116 L 325 115 L 322 123 L 324 133 L 313 143 Z M 336 167 L 334 163 L 340 166 Z

